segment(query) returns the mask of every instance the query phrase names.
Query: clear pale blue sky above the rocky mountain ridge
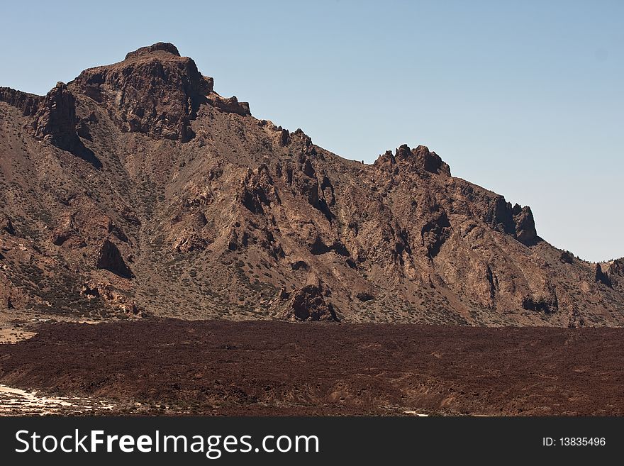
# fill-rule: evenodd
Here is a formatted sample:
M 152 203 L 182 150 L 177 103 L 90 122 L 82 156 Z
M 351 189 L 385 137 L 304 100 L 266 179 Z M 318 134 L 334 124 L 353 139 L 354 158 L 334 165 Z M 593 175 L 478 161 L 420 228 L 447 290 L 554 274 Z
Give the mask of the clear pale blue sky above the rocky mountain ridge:
M 624 256 L 624 1 L 4 1 L 0 86 L 172 42 L 343 157 L 428 145 L 588 260 Z

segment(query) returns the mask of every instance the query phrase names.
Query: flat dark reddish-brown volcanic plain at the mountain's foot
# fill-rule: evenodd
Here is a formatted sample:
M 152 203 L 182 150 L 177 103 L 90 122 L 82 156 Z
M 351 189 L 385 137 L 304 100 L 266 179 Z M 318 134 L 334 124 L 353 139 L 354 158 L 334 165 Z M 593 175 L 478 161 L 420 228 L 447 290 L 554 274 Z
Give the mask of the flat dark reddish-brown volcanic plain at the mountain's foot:
M 56 323 L 0 346 L 0 384 L 116 414 L 621 416 L 623 351 L 619 328 Z

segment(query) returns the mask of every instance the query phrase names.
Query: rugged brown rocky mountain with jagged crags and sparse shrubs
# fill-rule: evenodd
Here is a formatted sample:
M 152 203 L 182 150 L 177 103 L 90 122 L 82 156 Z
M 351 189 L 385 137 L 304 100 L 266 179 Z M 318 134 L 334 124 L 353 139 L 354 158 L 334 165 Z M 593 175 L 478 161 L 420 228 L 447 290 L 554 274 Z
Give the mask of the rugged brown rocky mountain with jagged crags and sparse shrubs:
M 624 324 L 623 259 L 554 248 L 423 145 L 366 165 L 258 120 L 172 44 L 0 88 L 0 128 L 9 315 Z

